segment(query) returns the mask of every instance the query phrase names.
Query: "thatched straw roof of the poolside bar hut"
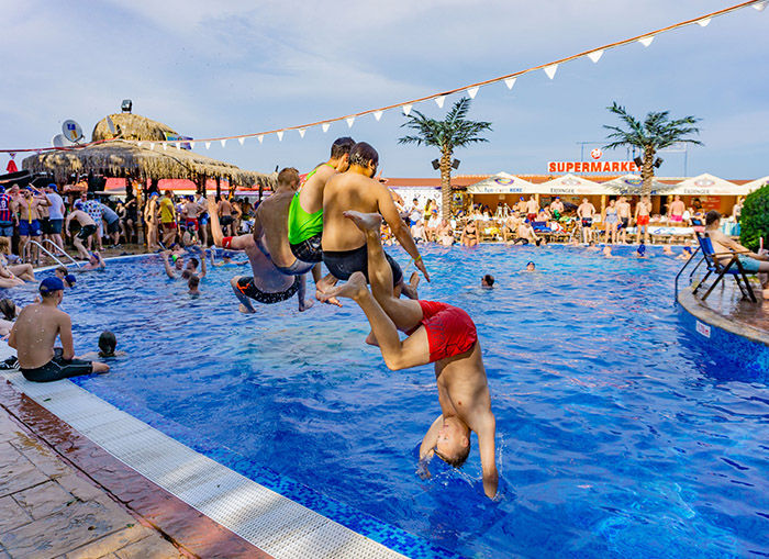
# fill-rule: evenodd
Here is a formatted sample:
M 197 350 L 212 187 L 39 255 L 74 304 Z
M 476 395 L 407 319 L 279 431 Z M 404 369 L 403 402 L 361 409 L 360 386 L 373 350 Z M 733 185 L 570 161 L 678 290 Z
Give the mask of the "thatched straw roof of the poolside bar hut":
M 137 179 L 189 179 L 202 186 L 207 179 L 227 179 L 231 186 L 274 187 L 276 177 L 242 170 L 234 165 L 179 149 L 168 144 L 164 149 L 166 133 L 174 130 L 159 122 L 137 114 L 111 114 L 116 134 L 110 132 L 107 118 L 93 128 L 92 142 L 111 141 L 81 148 L 43 152 L 26 157 L 22 167 L 33 172 L 47 172 L 57 182 L 66 182 L 71 175 L 93 172 L 105 177 L 133 177 Z M 113 139 L 118 138 L 118 139 Z M 141 142 L 141 145 L 140 143 Z

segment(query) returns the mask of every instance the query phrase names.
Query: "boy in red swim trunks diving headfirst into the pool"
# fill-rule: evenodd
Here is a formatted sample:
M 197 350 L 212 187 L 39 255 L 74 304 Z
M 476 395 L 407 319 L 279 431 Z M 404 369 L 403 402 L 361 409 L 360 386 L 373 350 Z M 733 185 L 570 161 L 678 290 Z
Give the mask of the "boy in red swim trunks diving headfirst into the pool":
M 381 215 L 352 211 L 344 215 L 366 236 L 371 292 L 364 273 L 356 271 L 347 283 L 330 289 L 328 294 L 353 299 L 360 305 L 388 369 L 435 364 L 443 413 L 422 440 L 420 461 L 437 455 L 454 467 L 461 466 L 470 454 L 470 431 L 475 431 L 481 455 L 483 492 L 493 499 L 498 484 L 495 420 L 476 325 L 456 306 L 394 297 L 392 270 L 382 249 Z M 399 329 L 409 334 L 403 342 Z M 423 471 L 430 474 L 426 468 Z

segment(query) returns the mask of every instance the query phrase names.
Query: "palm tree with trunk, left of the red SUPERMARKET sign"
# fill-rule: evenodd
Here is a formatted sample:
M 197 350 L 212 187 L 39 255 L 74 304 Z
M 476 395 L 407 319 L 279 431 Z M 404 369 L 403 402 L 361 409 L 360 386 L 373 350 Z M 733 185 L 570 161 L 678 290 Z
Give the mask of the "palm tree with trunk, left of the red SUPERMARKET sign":
M 470 99 L 462 97 L 457 101 L 443 121 L 428 119 L 420 111 L 406 115 L 408 121 L 401 127 L 416 131 L 416 135 L 403 136 L 399 144 L 424 144 L 441 149 L 441 194 L 443 199 L 443 217 L 452 216 L 452 156 L 457 147 L 466 147 L 476 142 L 488 142 L 478 134 L 491 130 L 490 122 L 475 122 L 465 119 L 470 110 Z

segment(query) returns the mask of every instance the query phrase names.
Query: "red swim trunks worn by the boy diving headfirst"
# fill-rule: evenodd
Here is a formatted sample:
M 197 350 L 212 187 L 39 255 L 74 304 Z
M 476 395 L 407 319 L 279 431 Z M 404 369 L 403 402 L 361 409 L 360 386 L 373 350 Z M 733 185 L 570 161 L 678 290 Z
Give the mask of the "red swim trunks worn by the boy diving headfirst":
M 469 351 L 478 342 L 476 325 L 461 309 L 446 303 L 420 301 L 430 342 L 430 362 Z

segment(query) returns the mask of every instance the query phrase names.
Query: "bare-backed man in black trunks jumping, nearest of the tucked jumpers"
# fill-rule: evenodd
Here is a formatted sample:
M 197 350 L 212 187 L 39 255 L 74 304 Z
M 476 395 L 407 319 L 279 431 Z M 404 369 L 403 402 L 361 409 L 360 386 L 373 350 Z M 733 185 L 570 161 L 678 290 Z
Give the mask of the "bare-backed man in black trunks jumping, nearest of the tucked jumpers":
M 411 236 L 409 227 L 398 212 L 392 194 L 381 182 L 374 178 L 379 165 L 379 154 L 365 142 L 353 146 L 349 152 L 349 169 L 347 172 L 334 175 L 326 182 L 323 192 L 323 262 L 328 271 L 341 280 L 346 280 L 353 272 L 360 271 L 366 277 L 368 272 L 366 235 L 345 217 L 346 210 L 363 213 L 378 212 L 384 217 L 392 234 L 398 238 L 403 249 L 414 259 L 416 268 L 430 281 L 430 275 L 424 266 L 422 256 Z M 403 281 L 398 262 L 384 254 L 390 268 L 398 294 L 416 299 L 416 290 Z M 322 287 L 320 291 L 326 291 Z

